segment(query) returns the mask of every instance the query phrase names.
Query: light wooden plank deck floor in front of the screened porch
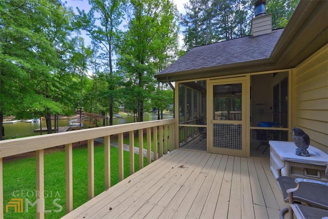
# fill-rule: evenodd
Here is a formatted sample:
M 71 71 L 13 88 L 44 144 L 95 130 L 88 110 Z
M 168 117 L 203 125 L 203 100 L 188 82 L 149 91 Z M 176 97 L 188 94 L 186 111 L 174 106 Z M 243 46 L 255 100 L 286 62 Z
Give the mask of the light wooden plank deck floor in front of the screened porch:
M 64 218 L 279 218 L 268 160 L 174 150 Z

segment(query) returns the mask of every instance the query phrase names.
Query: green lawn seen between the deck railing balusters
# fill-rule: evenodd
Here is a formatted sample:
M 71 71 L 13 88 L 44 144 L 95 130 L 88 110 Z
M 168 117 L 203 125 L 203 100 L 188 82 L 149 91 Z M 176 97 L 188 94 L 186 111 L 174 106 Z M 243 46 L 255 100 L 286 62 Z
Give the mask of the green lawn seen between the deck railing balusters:
M 139 156 L 135 154 L 135 171 L 138 170 Z M 45 153 L 45 217 L 59 218 L 66 214 L 65 208 L 65 151 Z M 144 166 L 147 160 L 144 160 Z M 4 218 L 35 218 L 36 201 L 35 157 L 4 162 Z M 124 151 L 124 175 L 129 176 L 129 152 Z M 88 154 L 87 148 L 73 148 L 73 207 L 88 201 Z M 105 190 L 104 146 L 94 147 L 94 188 L 95 195 Z M 111 185 L 118 183 L 118 149 L 111 147 Z M 6 212 L 6 205 L 12 198 L 23 198 L 24 212 L 15 213 L 13 208 Z

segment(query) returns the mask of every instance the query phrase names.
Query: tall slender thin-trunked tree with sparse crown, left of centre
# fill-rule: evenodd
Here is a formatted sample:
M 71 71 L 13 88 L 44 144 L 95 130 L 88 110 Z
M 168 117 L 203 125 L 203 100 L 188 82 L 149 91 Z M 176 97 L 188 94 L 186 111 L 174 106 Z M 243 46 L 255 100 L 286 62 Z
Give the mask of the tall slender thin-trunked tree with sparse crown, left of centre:
M 116 44 L 120 35 L 118 29 L 121 23 L 122 6 L 125 1 L 122 0 L 89 0 L 91 9 L 88 13 L 85 11 L 79 12 L 78 26 L 86 30 L 94 42 L 98 42 L 105 50 L 107 57 L 107 66 L 109 69 L 108 92 L 109 95 L 109 115 L 110 125 L 113 124 L 113 104 L 115 81 L 113 78 L 113 53 L 116 50 Z M 99 15 L 99 16 L 98 16 Z

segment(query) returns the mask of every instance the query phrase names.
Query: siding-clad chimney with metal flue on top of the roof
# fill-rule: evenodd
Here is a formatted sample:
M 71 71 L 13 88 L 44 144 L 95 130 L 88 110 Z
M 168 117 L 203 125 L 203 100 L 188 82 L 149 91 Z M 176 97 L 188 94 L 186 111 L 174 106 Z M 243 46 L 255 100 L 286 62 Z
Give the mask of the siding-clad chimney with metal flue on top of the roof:
M 252 18 L 251 35 L 258 36 L 272 32 L 272 16 L 265 14 L 267 0 L 255 1 L 255 17 Z

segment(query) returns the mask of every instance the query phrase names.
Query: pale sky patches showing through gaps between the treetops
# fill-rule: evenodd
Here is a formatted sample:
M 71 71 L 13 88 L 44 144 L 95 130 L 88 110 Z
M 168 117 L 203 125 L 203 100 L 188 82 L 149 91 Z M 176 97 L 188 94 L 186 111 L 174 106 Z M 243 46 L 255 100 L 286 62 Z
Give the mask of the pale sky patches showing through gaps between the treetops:
M 66 0 L 66 2 L 66 5 L 72 7 L 75 13 L 77 13 L 76 7 L 78 7 L 80 10 L 85 11 L 89 11 L 90 9 L 88 0 Z M 183 7 L 183 4 L 186 4 L 188 2 L 189 0 L 173 0 L 173 3 L 177 6 L 177 9 L 182 14 L 185 14 L 186 12 L 185 8 Z M 85 44 L 90 44 L 90 38 L 84 32 L 81 32 L 81 34 L 85 38 Z M 181 33 L 179 33 L 179 44 L 180 46 L 183 45 L 183 35 Z

